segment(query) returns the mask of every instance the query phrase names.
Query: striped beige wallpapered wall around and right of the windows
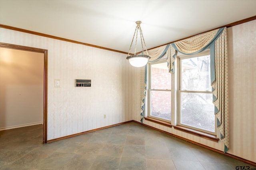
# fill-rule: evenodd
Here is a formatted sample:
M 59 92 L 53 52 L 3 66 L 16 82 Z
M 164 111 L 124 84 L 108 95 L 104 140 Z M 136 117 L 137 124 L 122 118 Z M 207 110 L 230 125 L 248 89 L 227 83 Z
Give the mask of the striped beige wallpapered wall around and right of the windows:
M 256 20 L 228 28 L 230 149 L 228 153 L 256 162 Z M 134 115 L 140 121 L 140 115 Z M 218 143 L 150 121 L 146 125 L 224 150 Z M 219 135 L 219 134 L 218 134 Z

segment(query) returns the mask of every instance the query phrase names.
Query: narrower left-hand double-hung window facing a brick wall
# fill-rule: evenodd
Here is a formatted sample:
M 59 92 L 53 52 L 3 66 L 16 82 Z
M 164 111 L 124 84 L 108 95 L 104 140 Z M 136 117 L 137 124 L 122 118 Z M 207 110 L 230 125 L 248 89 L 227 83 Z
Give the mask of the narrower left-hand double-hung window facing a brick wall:
M 149 64 L 149 72 L 149 116 L 170 121 L 171 74 L 166 60 Z

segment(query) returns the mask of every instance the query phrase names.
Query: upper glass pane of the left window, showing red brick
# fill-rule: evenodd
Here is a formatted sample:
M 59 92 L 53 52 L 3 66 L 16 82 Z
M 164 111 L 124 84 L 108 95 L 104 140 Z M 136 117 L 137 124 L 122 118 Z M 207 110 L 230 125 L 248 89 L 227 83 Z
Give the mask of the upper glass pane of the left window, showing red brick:
M 171 74 L 167 62 L 151 64 L 151 89 L 171 89 Z

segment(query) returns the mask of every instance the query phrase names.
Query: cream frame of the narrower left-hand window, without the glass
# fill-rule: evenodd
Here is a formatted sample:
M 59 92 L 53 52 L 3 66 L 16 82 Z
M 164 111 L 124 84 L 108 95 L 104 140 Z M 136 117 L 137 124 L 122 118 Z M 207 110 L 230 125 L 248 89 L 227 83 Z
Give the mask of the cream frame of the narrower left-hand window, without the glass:
M 172 83 L 170 82 L 170 87 L 171 87 L 170 90 L 168 90 L 168 89 L 151 89 L 151 82 L 152 82 L 151 81 L 151 68 L 152 68 L 152 65 L 160 64 L 160 63 L 166 63 L 166 66 L 167 66 L 166 58 L 160 59 L 159 61 L 156 61 L 156 62 L 148 63 L 148 89 L 147 89 L 147 92 L 148 92 L 148 115 L 147 115 L 147 117 L 171 123 L 171 121 L 172 121 Z M 171 76 L 171 79 L 172 79 L 172 74 L 171 73 L 170 73 L 170 76 Z M 170 116 L 171 117 L 170 117 L 170 120 L 162 119 L 160 117 L 155 117 L 155 116 L 151 115 L 151 91 L 171 92 L 171 95 L 170 95 L 170 100 L 171 100 L 171 104 L 170 104 L 170 107 L 171 107 Z

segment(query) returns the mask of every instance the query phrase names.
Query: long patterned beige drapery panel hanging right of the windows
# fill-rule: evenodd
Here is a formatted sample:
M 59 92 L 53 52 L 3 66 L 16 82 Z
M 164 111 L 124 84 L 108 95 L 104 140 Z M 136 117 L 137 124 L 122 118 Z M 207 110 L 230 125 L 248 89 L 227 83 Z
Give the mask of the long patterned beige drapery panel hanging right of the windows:
M 224 152 L 229 148 L 229 123 L 228 123 L 228 40 L 227 28 L 215 41 L 215 81 L 212 83 L 213 103 L 216 107 L 217 127 L 223 141 Z

